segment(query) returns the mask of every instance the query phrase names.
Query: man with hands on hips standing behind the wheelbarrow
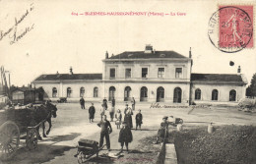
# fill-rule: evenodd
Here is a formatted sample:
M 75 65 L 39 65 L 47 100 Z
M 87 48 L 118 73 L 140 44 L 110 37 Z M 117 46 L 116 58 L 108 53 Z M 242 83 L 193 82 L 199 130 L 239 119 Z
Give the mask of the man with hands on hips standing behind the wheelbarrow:
M 103 145 L 103 139 L 105 137 L 105 141 L 106 141 L 106 147 L 108 149 L 108 151 L 110 151 L 110 139 L 109 139 L 109 134 L 112 133 L 112 128 L 111 128 L 111 124 L 109 121 L 106 120 L 106 115 L 103 116 L 102 121 L 100 121 L 97 124 L 98 127 L 101 128 L 100 131 L 100 139 L 99 139 L 99 147 L 102 147 Z

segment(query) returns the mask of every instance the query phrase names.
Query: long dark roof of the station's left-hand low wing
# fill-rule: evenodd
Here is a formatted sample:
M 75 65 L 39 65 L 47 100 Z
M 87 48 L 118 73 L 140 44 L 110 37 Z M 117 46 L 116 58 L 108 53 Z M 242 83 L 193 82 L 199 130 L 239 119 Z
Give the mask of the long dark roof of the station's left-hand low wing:
M 102 74 L 51 74 L 41 75 L 34 81 L 102 80 Z

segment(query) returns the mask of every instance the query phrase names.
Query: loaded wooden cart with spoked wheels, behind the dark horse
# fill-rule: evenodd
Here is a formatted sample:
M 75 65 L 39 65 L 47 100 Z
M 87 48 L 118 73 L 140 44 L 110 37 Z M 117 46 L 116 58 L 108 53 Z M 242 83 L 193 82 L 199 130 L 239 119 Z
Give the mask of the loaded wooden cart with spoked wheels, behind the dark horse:
M 37 128 L 32 108 L 0 110 L 0 160 L 12 158 L 19 148 L 20 139 L 26 139 L 28 149 L 37 146 Z

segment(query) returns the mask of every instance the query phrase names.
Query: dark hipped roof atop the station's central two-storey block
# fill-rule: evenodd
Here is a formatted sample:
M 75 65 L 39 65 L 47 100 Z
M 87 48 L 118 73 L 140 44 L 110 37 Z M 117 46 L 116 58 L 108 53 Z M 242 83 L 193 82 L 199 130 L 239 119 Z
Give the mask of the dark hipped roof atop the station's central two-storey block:
M 108 59 L 151 59 L 151 58 L 187 58 L 175 51 L 155 51 L 145 53 L 144 51 L 125 51 Z

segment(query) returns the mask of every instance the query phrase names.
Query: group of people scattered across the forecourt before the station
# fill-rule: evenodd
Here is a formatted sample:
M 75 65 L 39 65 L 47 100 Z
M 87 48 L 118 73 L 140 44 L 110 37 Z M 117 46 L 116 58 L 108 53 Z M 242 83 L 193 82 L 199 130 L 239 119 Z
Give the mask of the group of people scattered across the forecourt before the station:
M 85 100 L 82 97 L 80 100 L 81 103 L 81 108 L 85 109 Z M 100 117 L 101 121 L 97 124 L 97 126 L 101 129 L 100 131 L 100 139 L 99 139 L 99 147 L 103 145 L 103 139 L 105 138 L 106 141 L 106 147 L 108 151 L 110 151 L 110 139 L 109 139 L 109 134 L 112 133 L 112 127 L 110 122 L 113 122 L 115 119 L 115 125 L 119 132 L 119 137 L 118 137 L 118 142 L 121 144 L 121 151 L 123 151 L 123 146 L 125 144 L 127 151 L 129 152 L 128 149 L 128 144 L 133 140 L 132 132 L 131 130 L 133 129 L 133 113 L 135 110 L 135 99 L 133 98 L 132 100 L 132 108 L 129 107 L 128 103 L 125 104 L 125 109 L 124 109 L 124 118 L 122 115 L 122 112 L 120 109 L 118 109 L 115 112 L 115 99 L 111 100 L 111 108 L 107 109 L 107 100 L 104 98 L 101 104 L 100 108 Z M 106 111 L 109 111 L 110 115 L 110 122 L 106 119 Z M 89 119 L 90 123 L 94 122 L 95 119 L 95 113 L 96 113 L 96 108 L 94 106 L 94 103 L 89 108 Z M 163 117 L 162 118 L 162 123 L 160 123 L 160 130 L 158 131 L 158 137 L 156 143 L 160 141 L 160 139 L 167 137 L 167 129 L 169 123 L 167 122 L 168 117 Z M 143 124 L 143 115 L 141 113 L 141 110 L 138 110 L 138 113 L 135 116 L 136 120 L 136 129 L 141 130 L 141 126 Z M 122 125 L 122 128 L 121 128 Z

